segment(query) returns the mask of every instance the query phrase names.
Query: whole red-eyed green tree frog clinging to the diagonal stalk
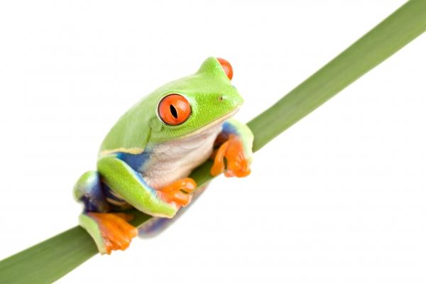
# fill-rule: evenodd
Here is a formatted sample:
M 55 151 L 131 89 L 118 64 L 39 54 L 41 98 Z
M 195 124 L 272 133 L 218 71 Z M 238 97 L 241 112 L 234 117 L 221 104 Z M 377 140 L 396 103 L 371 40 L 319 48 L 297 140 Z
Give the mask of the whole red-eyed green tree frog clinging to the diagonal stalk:
M 129 209 L 160 223 L 187 207 L 197 192 L 190 173 L 205 161 L 213 160 L 212 176 L 250 174 L 253 133 L 233 118 L 244 102 L 233 75 L 227 60 L 209 57 L 140 99 L 107 133 L 97 170 L 73 189 L 84 208 L 79 224 L 100 253 L 124 251 L 138 236 Z

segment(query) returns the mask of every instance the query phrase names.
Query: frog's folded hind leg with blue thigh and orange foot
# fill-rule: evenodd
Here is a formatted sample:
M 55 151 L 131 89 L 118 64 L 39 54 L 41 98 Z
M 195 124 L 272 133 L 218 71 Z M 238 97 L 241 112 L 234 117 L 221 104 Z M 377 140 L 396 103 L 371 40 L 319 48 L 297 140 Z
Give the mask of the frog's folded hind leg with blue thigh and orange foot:
M 104 187 L 96 171 L 82 175 L 74 187 L 74 197 L 84 204 L 80 226 L 92 236 L 100 253 L 127 249 L 138 230 L 128 223 L 131 215 L 111 212 L 113 206 L 104 195 Z

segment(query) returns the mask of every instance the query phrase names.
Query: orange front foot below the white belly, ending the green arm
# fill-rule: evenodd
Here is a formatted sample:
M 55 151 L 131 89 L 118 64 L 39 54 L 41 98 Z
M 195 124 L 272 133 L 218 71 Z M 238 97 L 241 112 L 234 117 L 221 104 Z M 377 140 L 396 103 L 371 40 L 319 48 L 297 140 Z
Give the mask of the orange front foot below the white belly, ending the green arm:
M 197 184 L 192 178 L 182 178 L 163 187 L 159 190 L 159 193 L 165 202 L 175 202 L 175 204 L 185 207 L 191 202 L 191 193 L 195 190 L 195 187 L 197 187 Z

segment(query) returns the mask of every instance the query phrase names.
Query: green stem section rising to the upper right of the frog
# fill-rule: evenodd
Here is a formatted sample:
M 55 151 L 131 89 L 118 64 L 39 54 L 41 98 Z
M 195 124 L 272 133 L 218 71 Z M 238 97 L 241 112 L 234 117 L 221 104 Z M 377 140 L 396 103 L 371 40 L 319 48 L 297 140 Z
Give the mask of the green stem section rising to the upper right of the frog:
M 353 45 L 249 122 L 254 150 L 376 67 L 426 30 L 426 1 L 408 1 Z

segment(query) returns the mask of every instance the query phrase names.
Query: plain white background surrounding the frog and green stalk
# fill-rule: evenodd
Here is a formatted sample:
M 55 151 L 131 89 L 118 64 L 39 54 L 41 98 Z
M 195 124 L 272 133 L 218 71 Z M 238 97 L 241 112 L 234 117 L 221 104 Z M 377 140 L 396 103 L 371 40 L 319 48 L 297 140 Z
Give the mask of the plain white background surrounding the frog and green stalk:
M 249 121 L 403 3 L 2 1 L 0 259 L 77 224 L 72 185 L 144 94 L 223 57 Z M 59 283 L 425 283 L 425 50 L 423 35 L 249 178 L 218 178 L 164 234 Z

